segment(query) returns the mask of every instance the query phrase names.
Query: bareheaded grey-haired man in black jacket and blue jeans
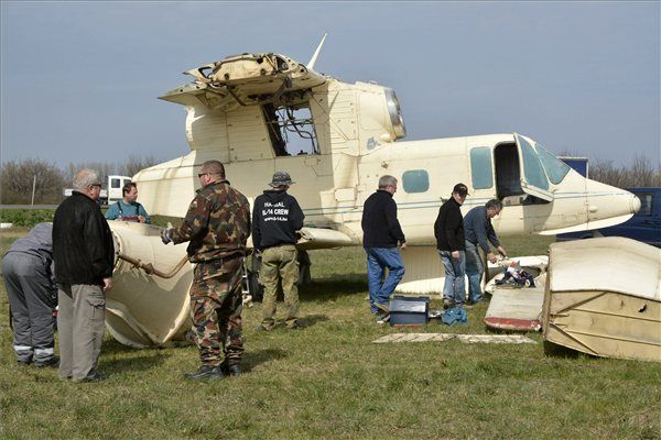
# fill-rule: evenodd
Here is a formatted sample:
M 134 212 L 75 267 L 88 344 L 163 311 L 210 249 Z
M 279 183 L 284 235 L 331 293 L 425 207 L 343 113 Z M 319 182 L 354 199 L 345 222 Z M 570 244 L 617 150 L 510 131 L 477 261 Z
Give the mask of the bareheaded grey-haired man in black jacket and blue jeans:
M 397 191 L 397 178 L 381 176 L 379 189 L 365 200 L 362 208 L 362 246 L 367 254 L 367 283 L 369 309 L 388 317 L 388 301 L 404 276 L 404 262 L 400 255 L 407 249 L 407 239 L 397 219 L 397 204 L 392 196 Z M 386 268 L 388 277 L 384 278 Z

